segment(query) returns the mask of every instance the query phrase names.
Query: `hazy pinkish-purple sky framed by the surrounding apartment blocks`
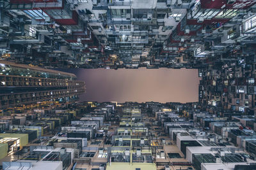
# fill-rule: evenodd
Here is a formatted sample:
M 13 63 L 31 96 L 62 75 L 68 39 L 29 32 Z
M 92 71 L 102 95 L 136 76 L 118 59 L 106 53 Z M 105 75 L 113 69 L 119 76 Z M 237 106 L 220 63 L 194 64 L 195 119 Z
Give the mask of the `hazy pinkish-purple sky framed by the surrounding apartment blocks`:
M 74 73 L 77 80 L 85 81 L 86 93 L 79 101 L 198 101 L 197 69 L 61 69 Z

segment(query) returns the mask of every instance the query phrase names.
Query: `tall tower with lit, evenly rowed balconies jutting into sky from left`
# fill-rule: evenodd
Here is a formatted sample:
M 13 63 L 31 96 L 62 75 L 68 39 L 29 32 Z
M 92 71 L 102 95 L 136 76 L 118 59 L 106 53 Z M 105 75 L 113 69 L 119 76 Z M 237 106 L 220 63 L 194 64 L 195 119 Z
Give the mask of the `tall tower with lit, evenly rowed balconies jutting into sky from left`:
M 85 92 L 76 75 L 0 61 L 0 108 L 38 101 L 69 101 Z

